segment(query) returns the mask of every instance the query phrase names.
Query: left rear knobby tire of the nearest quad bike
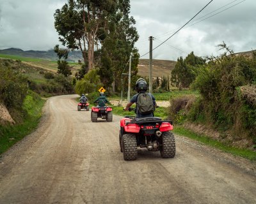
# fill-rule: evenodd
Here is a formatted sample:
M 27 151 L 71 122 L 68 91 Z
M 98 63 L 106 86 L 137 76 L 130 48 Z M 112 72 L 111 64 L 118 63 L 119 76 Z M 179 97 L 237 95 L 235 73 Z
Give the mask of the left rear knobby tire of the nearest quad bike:
M 132 134 L 123 135 L 123 156 L 124 160 L 135 160 L 137 159 L 137 142 L 136 136 Z

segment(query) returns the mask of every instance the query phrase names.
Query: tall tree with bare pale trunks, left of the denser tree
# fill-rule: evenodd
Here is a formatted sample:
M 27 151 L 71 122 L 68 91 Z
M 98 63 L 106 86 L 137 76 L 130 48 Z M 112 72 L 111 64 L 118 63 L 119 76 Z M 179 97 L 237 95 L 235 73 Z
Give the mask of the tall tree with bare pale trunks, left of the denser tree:
M 117 0 L 68 0 L 54 13 L 54 26 L 62 45 L 81 50 L 85 73 L 94 66 L 95 43 L 116 11 Z

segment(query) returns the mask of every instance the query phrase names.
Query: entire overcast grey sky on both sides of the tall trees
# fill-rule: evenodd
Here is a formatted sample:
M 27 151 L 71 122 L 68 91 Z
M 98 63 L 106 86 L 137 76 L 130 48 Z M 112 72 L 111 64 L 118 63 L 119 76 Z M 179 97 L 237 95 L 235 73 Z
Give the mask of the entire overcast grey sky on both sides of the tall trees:
M 170 38 L 210 0 L 131 0 L 140 39 L 136 47 L 148 58 L 148 37 L 153 48 Z M 49 50 L 58 42 L 53 14 L 65 0 L 0 0 L 0 49 Z M 256 1 L 213 0 L 166 43 L 153 50 L 154 59 L 177 60 L 190 52 L 218 55 L 225 43 L 234 52 L 256 49 Z

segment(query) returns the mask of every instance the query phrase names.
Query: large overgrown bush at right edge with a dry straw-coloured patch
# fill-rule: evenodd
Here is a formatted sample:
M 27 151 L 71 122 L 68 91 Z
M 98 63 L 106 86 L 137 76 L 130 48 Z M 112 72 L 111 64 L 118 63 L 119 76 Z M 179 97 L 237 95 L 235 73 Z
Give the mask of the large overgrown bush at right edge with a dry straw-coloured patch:
M 202 99 L 192 108 L 189 118 L 199 117 L 215 128 L 233 131 L 241 137 L 252 135 L 256 140 L 255 78 L 255 55 L 246 57 L 230 52 L 212 57 L 193 82 L 192 87 L 200 91 Z

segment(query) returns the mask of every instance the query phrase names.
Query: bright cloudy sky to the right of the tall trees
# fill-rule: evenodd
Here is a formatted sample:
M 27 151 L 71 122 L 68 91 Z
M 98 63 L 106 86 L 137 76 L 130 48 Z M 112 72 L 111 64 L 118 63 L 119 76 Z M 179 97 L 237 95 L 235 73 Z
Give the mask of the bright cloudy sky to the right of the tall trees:
M 203 17 L 226 4 L 229 5 L 221 10 L 241 1 L 243 0 L 212 1 L 196 18 Z M 143 49 L 143 52 L 140 52 L 140 54 L 143 55 L 148 52 L 148 36 L 159 36 L 157 37 L 158 40 L 166 40 L 208 2 L 184 0 L 157 1 L 157 3 L 153 0 L 131 1 L 131 15 L 134 15 L 137 21 L 141 41 L 136 43 L 136 46 L 139 50 Z M 143 9 L 141 9 L 142 6 Z M 255 49 L 254 33 L 256 28 L 253 26 L 256 20 L 255 9 L 256 2 L 247 0 L 237 4 L 237 6 L 228 8 L 218 15 L 214 15 L 214 13 L 220 12 L 221 10 L 215 11 L 199 20 L 203 20 L 211 15 L 214 15 L 213 17 L 205 19 L 198 24 L 195 24 L 198 21 L 194 21 L 192 24 L 195 25 L 184 27 L 182 31 L 175 34 L 175 36 L 166 42 L 166 44 L 184 50 L 186 53 L 179 52 L 166 45 L 161 45 L 161 47 L 153 50 L 153 56 L 176 60 L 180 55 L 186 56 L 191 51 L 201 56 L 216 55 L 220 54 L 216 45 L 222 43 L 222 41 L 225 41 L 235 52 L 252 50 L 253 47 Z M 168 31 L 173 32 L 167 33 Z M 159 41 L 154 41 L 153 45 L 155 45 L 153 47 L 156 47 L 159 45 Z M 145 55 L 145 57 L 148 57 L 148 55 Z

